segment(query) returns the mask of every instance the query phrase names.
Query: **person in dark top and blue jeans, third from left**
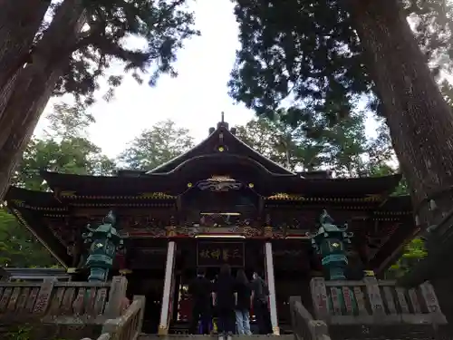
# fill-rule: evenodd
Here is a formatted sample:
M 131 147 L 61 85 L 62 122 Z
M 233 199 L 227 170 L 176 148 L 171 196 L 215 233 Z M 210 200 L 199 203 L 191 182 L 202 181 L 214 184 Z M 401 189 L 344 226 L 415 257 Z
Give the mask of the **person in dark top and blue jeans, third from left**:
M 250 330 L 250 306 L 252 304 L 252 289 L 243 269 L 237 270 L 236 275 L 236 326 L 238 335 L 252 335 Z

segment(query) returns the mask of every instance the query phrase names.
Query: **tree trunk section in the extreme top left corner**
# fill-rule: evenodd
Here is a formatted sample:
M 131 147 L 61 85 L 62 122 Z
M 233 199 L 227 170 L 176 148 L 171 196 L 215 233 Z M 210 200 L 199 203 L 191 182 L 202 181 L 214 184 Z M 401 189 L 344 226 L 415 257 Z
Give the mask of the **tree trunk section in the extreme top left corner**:
M 50 1 L 0 0 L 0 89 L 29 60 Z

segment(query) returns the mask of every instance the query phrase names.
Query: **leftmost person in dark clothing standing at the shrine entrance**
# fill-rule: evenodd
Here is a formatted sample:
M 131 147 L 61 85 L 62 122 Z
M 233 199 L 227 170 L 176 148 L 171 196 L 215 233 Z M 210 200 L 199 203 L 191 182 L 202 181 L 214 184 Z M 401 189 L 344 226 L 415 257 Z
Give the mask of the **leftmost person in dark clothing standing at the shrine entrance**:
M 198 322 L 201 321 L 200 334 L 208 335 L 211 325 L 212 284 L 205 277 L 202 268 L 197 270 L 197 278 L 188 285 L 188 294 L 192 296 L 192 320 L 190 334 L 198 334 Z

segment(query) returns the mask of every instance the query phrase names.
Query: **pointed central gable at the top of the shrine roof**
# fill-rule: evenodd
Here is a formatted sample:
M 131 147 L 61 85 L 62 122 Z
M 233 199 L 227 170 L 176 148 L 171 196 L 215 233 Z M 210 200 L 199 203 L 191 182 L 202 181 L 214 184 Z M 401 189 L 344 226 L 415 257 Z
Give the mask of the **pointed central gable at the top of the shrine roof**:
M 205 141 L 202 141 L 196 147 L 174 158 L 173 160 L 169 160 L 167 163 L 164 163 L 153 170 L 149 170 L 146 174 L 169 173 L 187 160 L 202 155 L 218 153 L 218 148 L 224 148 L 227 153 L 247 156 L 251 160 L 260 163 L 269 172 L 276 175 L 294 176 L 293 171 L 284 169 L 284 167 L 278 165 L 274 161 L 266 159 L 263 155 L 246 145 L 245 142 L 239 140 L 231 131 L 228 130 L 228 124 L 223 121 L 217 124 L 217 129 L 210 133 Z

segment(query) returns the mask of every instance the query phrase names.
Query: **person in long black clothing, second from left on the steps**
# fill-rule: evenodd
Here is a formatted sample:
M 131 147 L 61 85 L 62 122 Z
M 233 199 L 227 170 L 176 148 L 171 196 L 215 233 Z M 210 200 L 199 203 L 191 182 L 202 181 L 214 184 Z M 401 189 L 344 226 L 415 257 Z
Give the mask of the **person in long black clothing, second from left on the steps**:
M 224 265 L 214 288 L 214 305 L 217 306 L 218 339 L 231 340 L 235 332 L 236 279 L 231 276 L 231 268 Z

